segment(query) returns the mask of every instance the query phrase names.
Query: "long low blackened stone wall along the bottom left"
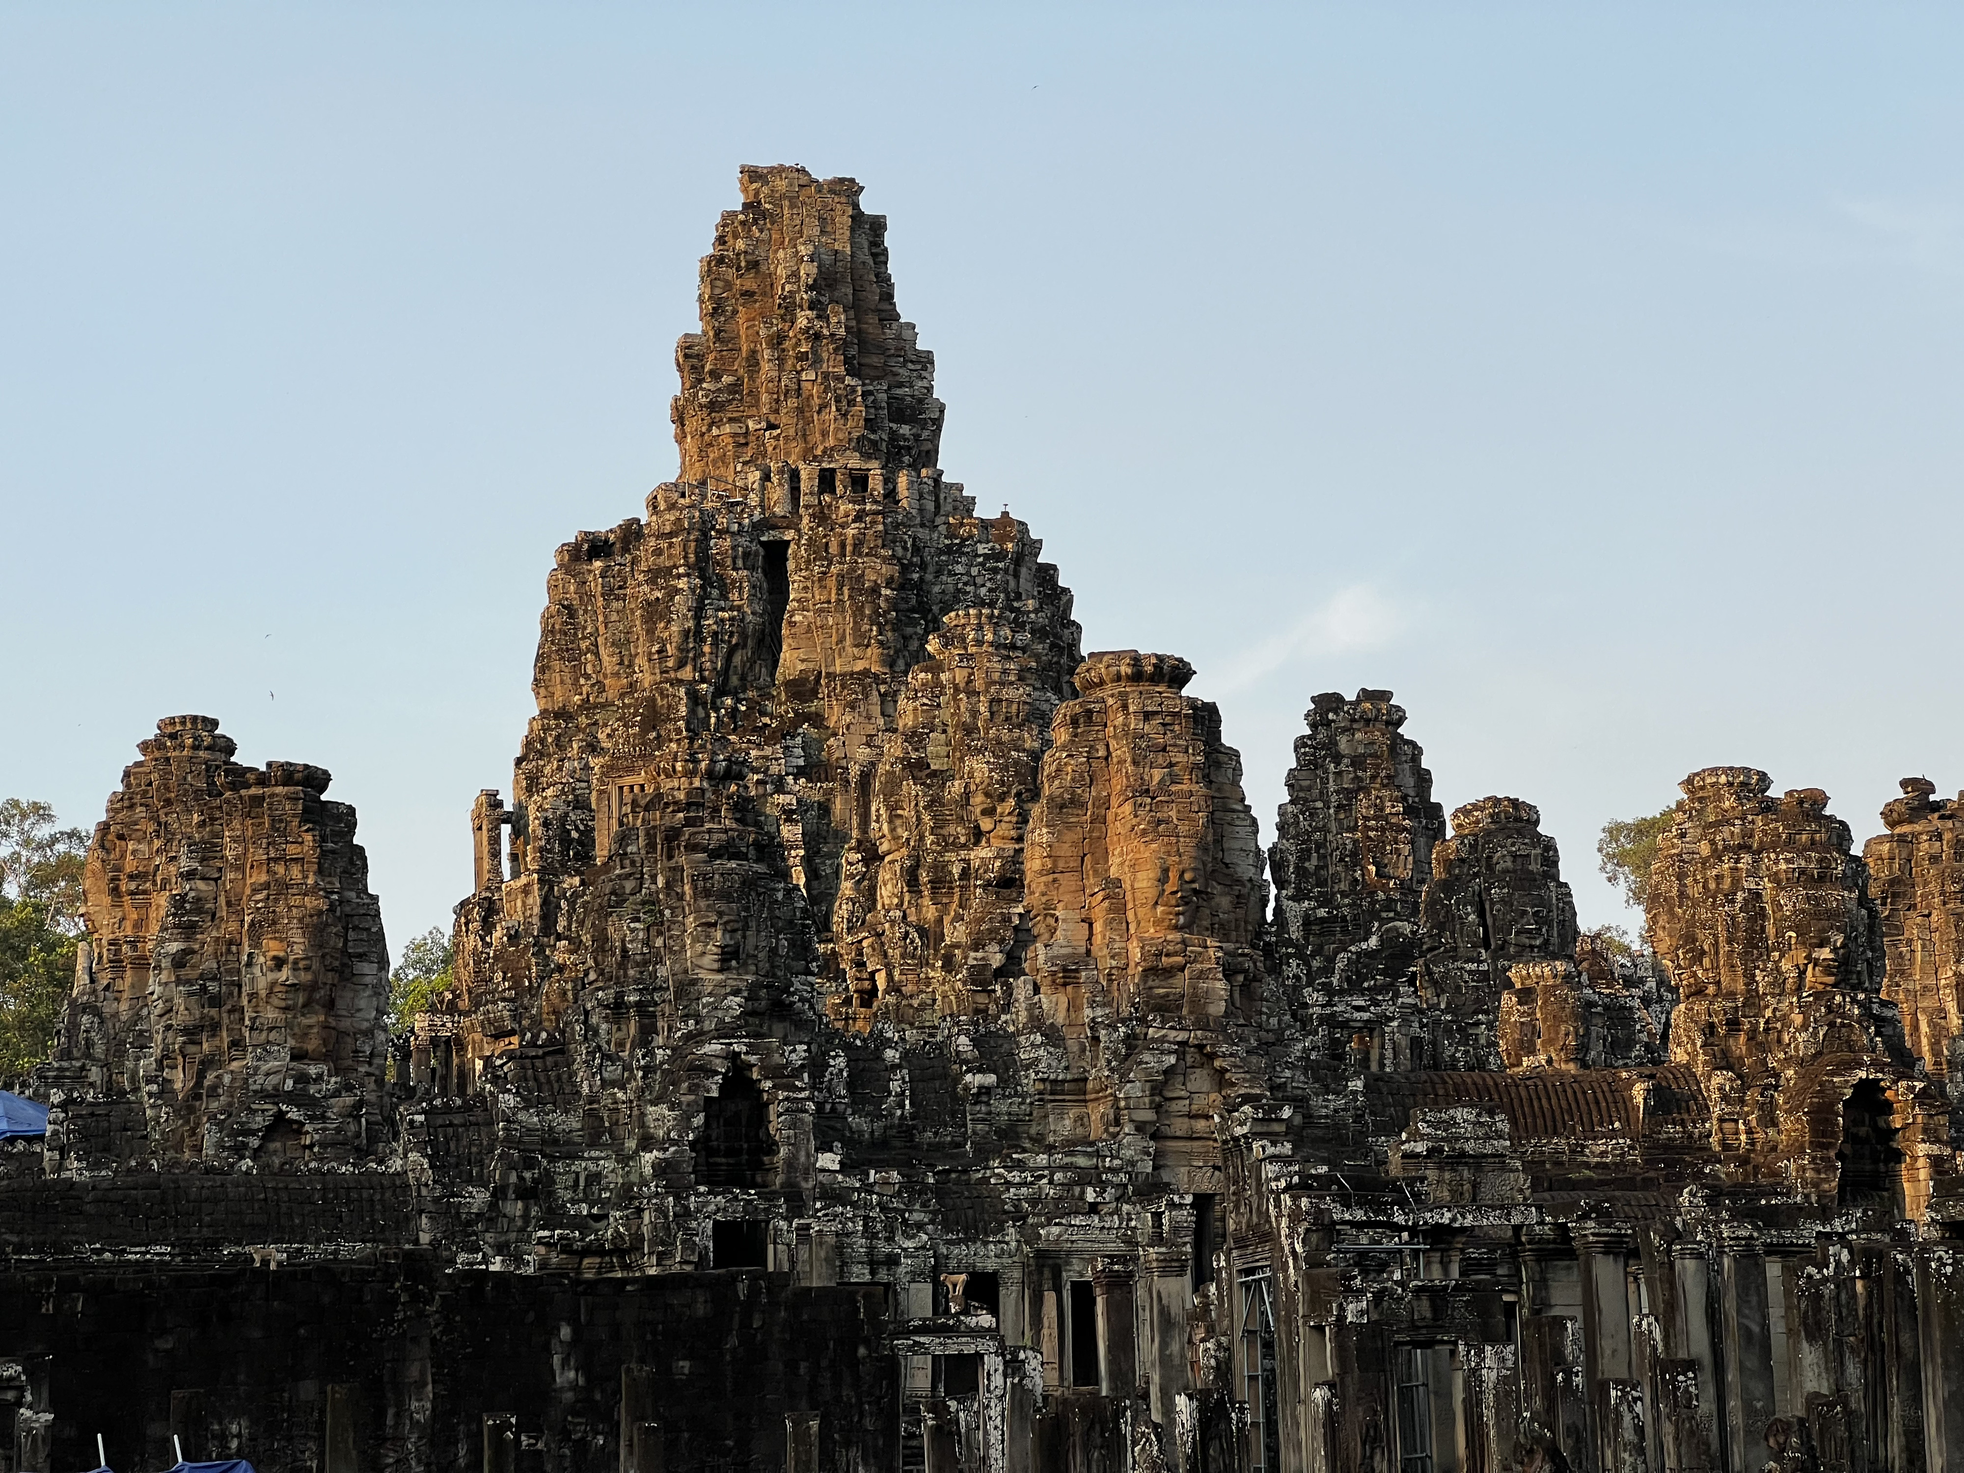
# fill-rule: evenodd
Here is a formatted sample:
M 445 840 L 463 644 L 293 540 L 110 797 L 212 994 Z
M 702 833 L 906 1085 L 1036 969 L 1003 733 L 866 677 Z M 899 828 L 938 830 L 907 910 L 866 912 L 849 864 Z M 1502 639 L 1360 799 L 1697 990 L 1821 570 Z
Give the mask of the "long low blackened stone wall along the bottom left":
M 0 1324 L 45 1377 L 53 1467 L 94 1463 L 100 1434 L 114 1467 L 169 1467 L 177 1436 L 189 1459 L 265 1469 L 619 1473 L 627 1432 L 640 1467 L 780 1473 L 799 1424 L 811 1473 L 898 1461 L 896 1361 L 864 1353 L 888 1328 L 878 1288 L 267 1255 L 114 1284 L 0 1273 Z

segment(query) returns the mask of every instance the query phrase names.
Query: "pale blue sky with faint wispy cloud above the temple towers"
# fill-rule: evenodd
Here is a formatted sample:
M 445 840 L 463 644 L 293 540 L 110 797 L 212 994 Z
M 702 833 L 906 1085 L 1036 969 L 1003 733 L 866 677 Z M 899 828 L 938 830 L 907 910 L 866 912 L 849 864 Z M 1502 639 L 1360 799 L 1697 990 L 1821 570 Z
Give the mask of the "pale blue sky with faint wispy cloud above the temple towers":
M 1585 923 L 1693 768 L 1964 788 L 1956 6 L 10 4 L 0 795 L 204 711 L 448 925 L 740 163 L 866 185 L 945 469 L 1265 835 L 1357 685 Z

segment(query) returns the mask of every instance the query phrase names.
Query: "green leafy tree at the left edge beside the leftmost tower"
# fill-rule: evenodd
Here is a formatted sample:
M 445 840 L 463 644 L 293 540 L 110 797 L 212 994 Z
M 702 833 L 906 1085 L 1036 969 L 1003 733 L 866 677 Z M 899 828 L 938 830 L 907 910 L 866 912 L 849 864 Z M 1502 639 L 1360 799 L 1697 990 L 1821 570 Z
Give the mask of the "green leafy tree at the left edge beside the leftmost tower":
M 0 801 L 0 1078 L 53 1053 L 82 935 L 84 846 L 47 803 Z

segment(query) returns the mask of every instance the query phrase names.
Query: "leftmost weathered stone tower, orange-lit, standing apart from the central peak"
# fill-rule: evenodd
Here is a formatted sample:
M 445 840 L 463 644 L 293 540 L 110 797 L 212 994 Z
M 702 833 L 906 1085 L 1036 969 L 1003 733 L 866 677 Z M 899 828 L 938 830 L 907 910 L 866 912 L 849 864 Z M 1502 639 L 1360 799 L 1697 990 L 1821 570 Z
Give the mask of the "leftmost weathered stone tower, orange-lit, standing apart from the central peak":
M 88 846 L 61 1159 L 375 1155 L 389 953 L 355 811 L 322 768 L 232 762 L 210 717 L 167 717 L 139 750 Z

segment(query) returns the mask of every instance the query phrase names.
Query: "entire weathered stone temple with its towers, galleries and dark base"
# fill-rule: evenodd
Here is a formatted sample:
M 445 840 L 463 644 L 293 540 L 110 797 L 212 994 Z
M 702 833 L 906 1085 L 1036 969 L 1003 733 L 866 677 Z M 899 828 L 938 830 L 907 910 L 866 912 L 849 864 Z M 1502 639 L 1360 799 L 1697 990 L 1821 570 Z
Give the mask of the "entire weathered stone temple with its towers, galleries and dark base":
M 1958 809 L 1905 780 L 1858 856 L 1691 774 L 1626 953 L 1363 689 L 1263 852 L 1192 668 L 1086 656 L 943 477 L 858 185 L 740 191 L 682 471 L 558 550 L 393 1057 L 324 770 L 175 717 L 110 799 L 0 1171 L 20 1455 L 1964 1461 Z

